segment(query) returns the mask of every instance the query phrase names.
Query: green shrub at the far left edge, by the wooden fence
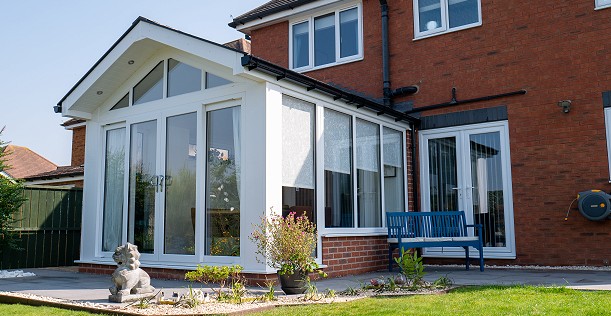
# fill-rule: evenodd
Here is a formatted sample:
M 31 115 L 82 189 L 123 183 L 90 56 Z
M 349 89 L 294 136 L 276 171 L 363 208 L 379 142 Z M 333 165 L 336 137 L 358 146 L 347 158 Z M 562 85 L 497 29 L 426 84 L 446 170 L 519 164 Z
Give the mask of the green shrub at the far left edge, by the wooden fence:
M 0 136 L 4 127 L 0 129 Z M 0 172 L 10 168 L 6 164 L 6 142 L 0 139 Z M 17 221 L 15 213 L 25 201 L 23 197 L 23 184 L 20 181 L 9 179 L 0 175 L 0 253 L 7 249 L 17 249 L 17 239 L 13 224 Z

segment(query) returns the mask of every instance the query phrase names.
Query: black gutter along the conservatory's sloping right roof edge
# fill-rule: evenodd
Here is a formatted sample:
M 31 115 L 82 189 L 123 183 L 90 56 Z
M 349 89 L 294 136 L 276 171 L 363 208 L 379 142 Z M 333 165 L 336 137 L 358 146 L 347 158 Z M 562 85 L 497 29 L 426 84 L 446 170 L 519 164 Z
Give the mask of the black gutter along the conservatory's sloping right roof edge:
M 252 55 L 246 55 L 242 57 L 242 66 L 247 67 L 248 70 L 258 69 L 269 74 L 275 75 L 277 80 L 287 79 L 292 82 L 301 84 L 306 87 L 307 91 L 318 90 L 320 92 L 332 96 L 333 100 L 343 100 L 347 104 L 355 104 L 357 109 L 364 107 L 374 112 L 377 112 L 378 115 L 391 116 L 395 119 L 396 122 L 406 121 L 412 124 L 418 124 L 420 122 L 419 119 L 411 115 L 407 115 L 403 112 L 386 107 L 376 101 L 333 87 L 324 82 L 318 81 L 306 75 L 286 69 L 284 67 L 278 66 L 276 64 L 270 63 L 266 60 L 257 58 Z

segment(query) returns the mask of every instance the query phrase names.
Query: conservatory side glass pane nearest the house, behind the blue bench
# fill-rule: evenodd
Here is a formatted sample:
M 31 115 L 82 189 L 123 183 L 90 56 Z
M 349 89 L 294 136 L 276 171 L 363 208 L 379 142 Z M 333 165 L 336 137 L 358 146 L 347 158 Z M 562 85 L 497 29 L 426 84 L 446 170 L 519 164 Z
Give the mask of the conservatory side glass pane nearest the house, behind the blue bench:
M 403 133 L 384 127 L 384 208 L 404 212 Z

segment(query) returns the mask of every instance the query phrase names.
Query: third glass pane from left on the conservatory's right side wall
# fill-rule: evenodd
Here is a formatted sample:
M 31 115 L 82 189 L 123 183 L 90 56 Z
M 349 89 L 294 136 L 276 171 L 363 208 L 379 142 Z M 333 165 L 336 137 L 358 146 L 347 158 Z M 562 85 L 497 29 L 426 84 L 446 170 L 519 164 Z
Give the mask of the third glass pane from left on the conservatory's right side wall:
M 379 126 L 357 119 L 355 144 L 359 227 L 382 227 Z

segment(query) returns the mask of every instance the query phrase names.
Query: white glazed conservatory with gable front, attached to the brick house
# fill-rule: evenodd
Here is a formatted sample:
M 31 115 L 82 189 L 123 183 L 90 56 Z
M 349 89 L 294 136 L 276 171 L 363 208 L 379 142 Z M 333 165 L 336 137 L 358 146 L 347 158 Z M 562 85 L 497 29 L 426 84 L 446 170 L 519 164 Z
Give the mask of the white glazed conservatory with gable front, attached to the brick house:
M 406 210 L 410 117 L 144 18 L 58 108 L 87 120 L 81 263 L 131 242 L 145 267 L 269 273 L 253 224 L 297 212 L 332 265 L 328 242 Z

